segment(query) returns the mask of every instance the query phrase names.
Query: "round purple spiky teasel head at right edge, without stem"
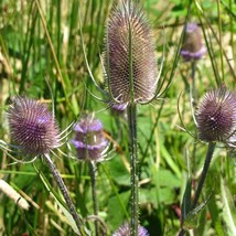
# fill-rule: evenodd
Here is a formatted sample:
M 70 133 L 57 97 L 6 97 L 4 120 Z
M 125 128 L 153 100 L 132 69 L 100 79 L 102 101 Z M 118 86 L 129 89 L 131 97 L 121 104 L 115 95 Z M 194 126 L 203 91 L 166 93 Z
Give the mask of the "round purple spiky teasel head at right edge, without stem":
M 206 142 L 227 142 L 236 131 L 236 94 L 218 88 L 208 92 L 196 114 L 199 137 Z

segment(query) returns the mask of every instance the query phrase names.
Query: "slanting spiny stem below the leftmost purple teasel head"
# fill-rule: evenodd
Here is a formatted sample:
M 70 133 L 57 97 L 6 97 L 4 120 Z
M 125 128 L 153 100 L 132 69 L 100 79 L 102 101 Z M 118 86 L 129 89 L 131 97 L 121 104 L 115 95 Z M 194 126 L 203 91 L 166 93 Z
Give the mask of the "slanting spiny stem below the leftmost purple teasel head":
M 56 183 L 57 183 L 57 185 L 58 185 L 58 187 L 60 187 L 60 190 L 61 190 L 61 192 L 65 199 L 65 202 L 68 206 L 68 211 L 72 214 L 72 217 L 74 218 L 74 221 L 76 223 L 79 235 L 85 236 L 86 234 L 84 230 L 84 223 L 76 212 L 76 208 L 75 208 L 75 206 L 74 206 L 74 204 L 69 197 L 68 190 L 67 190 L 66 185 L 64 184 L 64 182 L 63 182 L 55 164 L 51 160 L 50 155 L 44 154 L 44 157 L 45 157 L 44 159 L 45 159 L 45 161 L 46 161 L 46 163 L 47 163 L 47 165 L 49 165 L 49 168 L 50 168 L 50 170 L 51 170 L 51 172 L 52 172 L 52 174 L 53 174 L 53 176 L 54 176 L 54 179 L 55 179 L 55 181 L 56 181 Z

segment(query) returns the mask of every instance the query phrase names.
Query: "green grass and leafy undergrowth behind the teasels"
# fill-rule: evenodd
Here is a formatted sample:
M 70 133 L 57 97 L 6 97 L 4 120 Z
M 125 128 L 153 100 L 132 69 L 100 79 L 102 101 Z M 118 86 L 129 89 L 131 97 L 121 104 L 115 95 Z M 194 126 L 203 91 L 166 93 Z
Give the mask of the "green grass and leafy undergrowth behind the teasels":
M 233 0 L 218 1 L 218 4 L 193 1 L 189 8 L 189 1 L 180 0 L 140 2 L 153 29 L 159 67 L 165 41 L 161 79 L 164 79 L 164 86 L 171 81 L 171 86 L 160 99 L 138 106 L 140 222 L 151 236 L 172 236 L 181 228 L 176 213 L 187 178 L 193 179 L 194 189 L 207 150 L 207 144 L 196 141 L 180 128 L 178 106 L 185 127 L 195 132 L 189 93 L 192 86 L 191 63 L 183 62 L 178 54 L 182 30 L 187 15 L 190 21 L 201 23 L 208 50 L 196 65 L 196 101 L 206 90 L 223 82 L 235 90 L 236 4 Z M 130 216 L 128 127 L 126 118 L 114 116 L 106 109 L 106 104 L 88 93 L 104 98 L 89 76 L 81 33 L 90 72 L 104 88 L 99 55 L 104 50 L 105 26 L 112 3 L 104 0 L 41 0 L 41 14 L 36 1 L 0 1 L 0 139 L 10 142 L 6 110 L 14 95 L 49 103 L 55 109 L 62 130 L 84 112 L 96 112 L 111 140 L 111 148 L 117 144 L 110 153 L 112 158 L 98 164 L 97 170 L 99 216 L 105 222 L 107 235 L 111 235 Z M 66 144 L 62 150 L 68 153 Z M 88 164 L 56 153 L 58 158 L 52 158 L 78 213 L 83 218 L 89 218 L 94 213 Z M 200 203 L 213 195 L 199 214 L 195 235 L 236 234 L 234 158 L 235 153 L 230 154 L 224 146 L 217 144 Z M 42 174 L 56 199 L 62 201 L 43 158 L 37 158 L 33 164 L 14 163 L 7 152 L 0 150 L 0 178 L 23 193 L 30 203 L 30 210 L 23 211 L 0 192 L 0 234 L 74 234 L 43 182 Z M 94 221 L 88 219 L 87 227 L 93 232 Z

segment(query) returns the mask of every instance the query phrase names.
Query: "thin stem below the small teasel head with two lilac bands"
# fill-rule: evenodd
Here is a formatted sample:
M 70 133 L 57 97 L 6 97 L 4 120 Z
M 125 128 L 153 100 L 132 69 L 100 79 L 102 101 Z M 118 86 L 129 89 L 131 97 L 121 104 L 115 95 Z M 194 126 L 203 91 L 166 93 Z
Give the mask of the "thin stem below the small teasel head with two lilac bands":
M 97 181 L 96 181 L 96 163 L 89 162 L 89 172 L 90 172 L 90 181 L 92 181 L 92 197 L 94 204 L 94 215 L 98 216 L 98 202 L 97 202 Z M 98 221 L 95 221 L 95 233 L 99 236 L 99 225 Z

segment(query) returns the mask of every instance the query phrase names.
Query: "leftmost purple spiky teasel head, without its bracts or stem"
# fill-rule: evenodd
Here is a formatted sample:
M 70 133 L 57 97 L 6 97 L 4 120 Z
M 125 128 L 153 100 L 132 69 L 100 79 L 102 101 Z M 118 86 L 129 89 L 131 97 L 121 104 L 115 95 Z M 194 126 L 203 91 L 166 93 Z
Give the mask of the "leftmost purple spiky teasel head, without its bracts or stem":
M 45 104 L 15 97 L 8 120 L 11 139 L 24 154 L 45 154 L 60 146 L 56 121 Z

